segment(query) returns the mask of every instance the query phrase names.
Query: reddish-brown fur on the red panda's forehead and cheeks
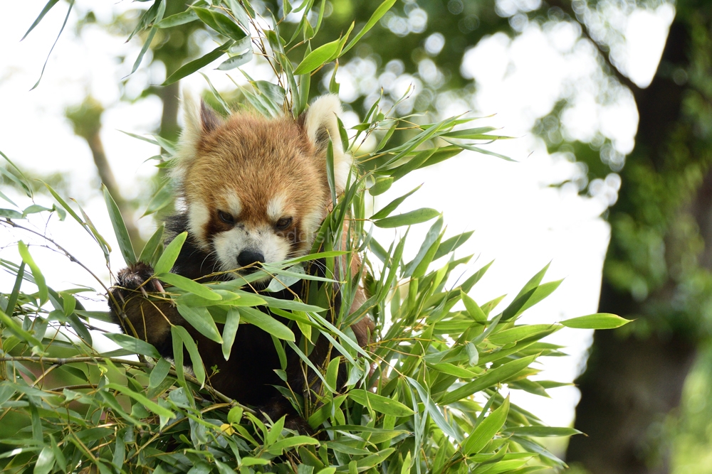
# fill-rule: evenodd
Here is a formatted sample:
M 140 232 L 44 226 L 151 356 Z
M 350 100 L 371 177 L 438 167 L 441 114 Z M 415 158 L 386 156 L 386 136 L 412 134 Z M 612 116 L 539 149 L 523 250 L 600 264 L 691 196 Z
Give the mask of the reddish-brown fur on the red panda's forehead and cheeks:
M 285 233 L 314 232 L 314 228 L 304 228 L 313 227 L 314 222 L 303 222 L 303 218 L 326 215 L 325 156 L 293 119 L 234 114 L 224 124 L 204 131 L 195 152 L 197 156 L 184 166 L 183 193 L 188 208 L 204 203 L 211 212 L 201 237 L 229 230 L 215 212 L 226 208 L 224 196 L 229 193 L 239 196 L 239 220 L 251 227 L 274 224 L 266 216 L 268 202 L 276 195 L 286 197 L 294 219 Z

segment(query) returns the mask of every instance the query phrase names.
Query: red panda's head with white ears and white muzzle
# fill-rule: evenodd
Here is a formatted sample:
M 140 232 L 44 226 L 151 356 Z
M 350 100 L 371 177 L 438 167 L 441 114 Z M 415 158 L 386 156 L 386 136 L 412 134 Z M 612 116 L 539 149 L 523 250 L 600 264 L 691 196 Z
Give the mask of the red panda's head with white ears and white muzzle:
M 223 120 L 187 95 L 183 109 L 174 178 L 201 249 L 214 252 L 224 271 L 306 254 L 331 203 L 329 137 L 337 193 L 351 171 L 338 138 L 339 99 L 316 99 L 298 120 L 255 112 Z

